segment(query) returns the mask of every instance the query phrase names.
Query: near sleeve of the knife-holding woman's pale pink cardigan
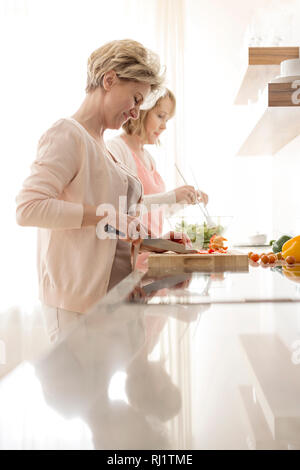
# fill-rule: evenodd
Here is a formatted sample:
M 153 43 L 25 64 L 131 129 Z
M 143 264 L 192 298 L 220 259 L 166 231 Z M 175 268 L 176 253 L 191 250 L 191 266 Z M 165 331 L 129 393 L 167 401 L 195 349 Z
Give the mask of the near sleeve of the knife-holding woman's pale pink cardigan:
M 80 228 L 83 205 L 61 198 L 79 171 L 82 141 L 76 128 L 63 120 L 40 139 L 31 174 L 16 197 L 17 223 L 50 229 Z

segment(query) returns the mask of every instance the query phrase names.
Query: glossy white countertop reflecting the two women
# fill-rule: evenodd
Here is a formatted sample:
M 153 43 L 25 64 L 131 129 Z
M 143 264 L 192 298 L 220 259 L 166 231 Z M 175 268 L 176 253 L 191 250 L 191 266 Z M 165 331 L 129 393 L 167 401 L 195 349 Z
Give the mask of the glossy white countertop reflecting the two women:
M 300 448 L 299 286 L 133 273 L 2 378 L 0 448 Z

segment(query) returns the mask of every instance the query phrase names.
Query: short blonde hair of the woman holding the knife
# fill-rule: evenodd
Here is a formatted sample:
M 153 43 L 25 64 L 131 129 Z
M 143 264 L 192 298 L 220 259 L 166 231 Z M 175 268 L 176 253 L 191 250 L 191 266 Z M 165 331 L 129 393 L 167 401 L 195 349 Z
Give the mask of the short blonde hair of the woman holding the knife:
M 87 65 L 87 93 L 102 86 L 103 76 L 114 70 L 120 79 L 147 83 L 157 91 L 164 82 L 157 54 L 131 39 L 111 41 L 90 55 Z

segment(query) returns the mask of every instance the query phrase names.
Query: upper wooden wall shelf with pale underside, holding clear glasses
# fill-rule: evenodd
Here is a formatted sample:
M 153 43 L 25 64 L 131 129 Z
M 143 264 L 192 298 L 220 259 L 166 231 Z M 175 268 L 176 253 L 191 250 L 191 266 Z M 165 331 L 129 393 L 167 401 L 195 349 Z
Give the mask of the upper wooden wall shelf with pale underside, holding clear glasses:
M 280 63 L 299 57 L 299 47 L 249 47 L 247 68 L 234 104 L 256 102 L 261 90 L 280 74 Z

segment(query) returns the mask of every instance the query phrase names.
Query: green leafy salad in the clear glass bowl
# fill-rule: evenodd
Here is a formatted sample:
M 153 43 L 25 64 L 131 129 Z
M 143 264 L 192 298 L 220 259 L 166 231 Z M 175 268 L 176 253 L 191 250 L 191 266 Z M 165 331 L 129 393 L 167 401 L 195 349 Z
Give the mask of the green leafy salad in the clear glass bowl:
M 194 245 L 208 248 L 209 240 L 213 235 L 222 235 L 224 227 L 216 225 L 215 227 L 208 227 L 206 222 L 203 224 L 188 224 L 184 220 L 176 224 L 176 232 L 185 233 Z

